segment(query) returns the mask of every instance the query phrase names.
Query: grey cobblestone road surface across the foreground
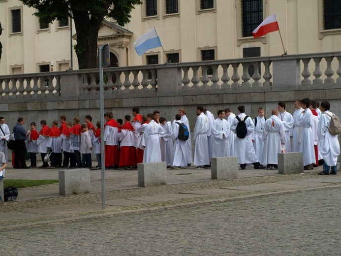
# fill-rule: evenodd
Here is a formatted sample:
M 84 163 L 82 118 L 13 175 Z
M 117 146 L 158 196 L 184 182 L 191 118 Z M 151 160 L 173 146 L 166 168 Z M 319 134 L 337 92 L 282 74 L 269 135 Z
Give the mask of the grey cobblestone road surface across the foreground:
M 341 255 L 341 190 L 304 190 L 0 232 L 1 255 Z

